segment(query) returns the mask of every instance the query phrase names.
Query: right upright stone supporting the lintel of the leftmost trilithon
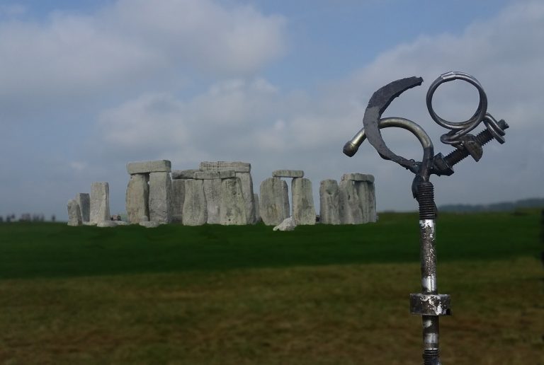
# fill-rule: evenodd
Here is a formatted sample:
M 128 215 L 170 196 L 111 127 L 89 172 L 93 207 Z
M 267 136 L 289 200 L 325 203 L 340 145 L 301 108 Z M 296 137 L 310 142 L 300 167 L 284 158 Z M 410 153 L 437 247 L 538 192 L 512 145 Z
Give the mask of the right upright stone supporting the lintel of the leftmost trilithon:
M 149 221 L 171 222 L 171 190 L 170 173 L 149 174 Z

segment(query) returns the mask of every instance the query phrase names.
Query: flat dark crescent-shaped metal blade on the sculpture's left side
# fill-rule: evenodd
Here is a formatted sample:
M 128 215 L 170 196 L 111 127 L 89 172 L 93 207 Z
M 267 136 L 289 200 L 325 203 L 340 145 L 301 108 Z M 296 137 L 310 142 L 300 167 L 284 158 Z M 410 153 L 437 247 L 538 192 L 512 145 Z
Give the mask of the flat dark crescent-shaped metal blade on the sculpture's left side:
M 397 98 L 404 91 L 409 88 L 419 86 L 423 83 L 421 77 L 408 77 L 406 79 L 400 79 L 388 83 L 387 85 L 379 88 L 378 91 L 373 93 L 372 97 L 368 101 L 368 106 L 365 110 L 365 116 L 363 117 L 363 126 L 365 129 L 365 136 L 374 146 L 376 151 L 382 158 L 391 160 L 398 163 L 405 168 L 412 170 L 414 168 L 414 161 L 409 161 L 402 156 L 397 156 L 385 145 L 382 134 L 380 133 L 379 122 L 382 117 L 382 113 L 387 109 L 391 102 Z

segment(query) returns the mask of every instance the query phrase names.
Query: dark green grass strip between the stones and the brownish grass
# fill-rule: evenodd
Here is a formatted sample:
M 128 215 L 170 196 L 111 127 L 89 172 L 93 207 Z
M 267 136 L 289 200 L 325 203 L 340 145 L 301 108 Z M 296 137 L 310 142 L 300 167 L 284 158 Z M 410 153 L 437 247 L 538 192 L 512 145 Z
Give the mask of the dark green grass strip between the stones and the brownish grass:
M 439 262 L 539 255 L 540 216 L 443 214 Z M 142 272 L 417 262 L 416 214 L 380 214 L 378 224 L 96 228 L 0 225 L 0 278 L 73 277 Z

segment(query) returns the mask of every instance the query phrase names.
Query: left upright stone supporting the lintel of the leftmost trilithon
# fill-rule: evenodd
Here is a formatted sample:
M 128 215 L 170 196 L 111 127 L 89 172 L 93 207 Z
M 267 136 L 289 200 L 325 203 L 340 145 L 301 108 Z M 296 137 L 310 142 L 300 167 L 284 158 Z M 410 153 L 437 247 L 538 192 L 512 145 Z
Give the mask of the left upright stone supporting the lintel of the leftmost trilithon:
M 149 185 L 147 174 L 133 174 L 128 180 L 127 193 L 125 195 L 125 209 L 127 210 L 128 221 L 136 224 L 149 216 Z

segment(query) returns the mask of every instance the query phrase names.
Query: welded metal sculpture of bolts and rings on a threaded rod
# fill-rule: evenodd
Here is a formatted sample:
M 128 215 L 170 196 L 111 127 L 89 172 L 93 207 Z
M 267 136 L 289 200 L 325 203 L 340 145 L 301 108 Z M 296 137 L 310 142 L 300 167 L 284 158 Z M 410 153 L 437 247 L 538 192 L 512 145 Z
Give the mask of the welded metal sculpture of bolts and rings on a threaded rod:
M 453 80 L 462 80 L 471 83 L 480 94 L 480 103 L 477 110 L 464 122 L 449 122 L 439 117 L 433 110 L 432 100 L 438 86 Z M 361 129 L 350 141 L 344 145 L 344 153 L 353 156 L 365 139 L 378 151 L 378 154 L 386 160 L 398 163 L 400 166 L 412 171 L 416 176 L 412 182 L 412 194 L 419 203 L 419 233 L 420 233 L 420 259 L 421 259 L 421 293 L 410 294 L 410 311 L 412 314 L 421 315 L 423 322 L 424 365 L 438 365 L 440 362 L 438 336 L 438 318 L 441 315 L 450 315 L 450 296 L 438 294 L 436 286 L 436 204 L 434 202 L 434 188 L 429 181 L 432 174 L 449 176 L 453 174 L 453 166 L 467 156 L 472 156 L 475 161 L 482 158 L 482 146 L 492 139 L 504 143 L 504 130 L 509 126 L 504 120 L 497 120 L 487 112 L 487 95 L 480 83 L 469 74 L 451 71 L 438 77 L 426 95 L 426 105 L 431 118 L 449 132 L 441 136 L 445 144 L 455 146 L 455 151 L 443 156 L 442 153 L 434 155 L 433 143 L 418 124 L 399 117 L 382 118 L 382 113 L 404 91 L 421 85 L 421 77 L 409 77 L 388 83 L 386 86 L 373 93 L 363 117 L 363 129 Z M 476 136 L 470 134 L 481 122 L 485 124 L 485 131 Z M 420 162 L 408 160 L 398 156 L 387 148 L 382 139 L 380 129 L 399 127 L 412 132 L 423 147 L 423 158 Z

